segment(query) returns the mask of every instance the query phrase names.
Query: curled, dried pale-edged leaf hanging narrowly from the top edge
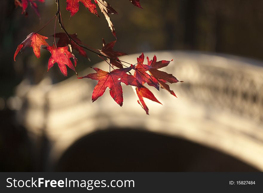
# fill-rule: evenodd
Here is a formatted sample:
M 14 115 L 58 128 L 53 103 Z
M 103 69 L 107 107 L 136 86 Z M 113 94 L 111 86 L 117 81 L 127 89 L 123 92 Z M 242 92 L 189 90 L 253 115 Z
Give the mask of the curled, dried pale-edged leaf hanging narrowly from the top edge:
M 98 6 L 100 7 L 101 12 L 103 13 L 103 15 L 105 16 L 109 28 L 111 29 L 112 34 L 114 35 L 114 37 L 117 39 L 116 33 L 115 33 L 115 29 L 114 29 L 114 25 L 112 24 L 109 14 L 118 14 L 117 11 L 115 11 L 110 4 L 108 4 L 106 1 L 104 0 L 94 0 L 95 3 L 98 4 Z

